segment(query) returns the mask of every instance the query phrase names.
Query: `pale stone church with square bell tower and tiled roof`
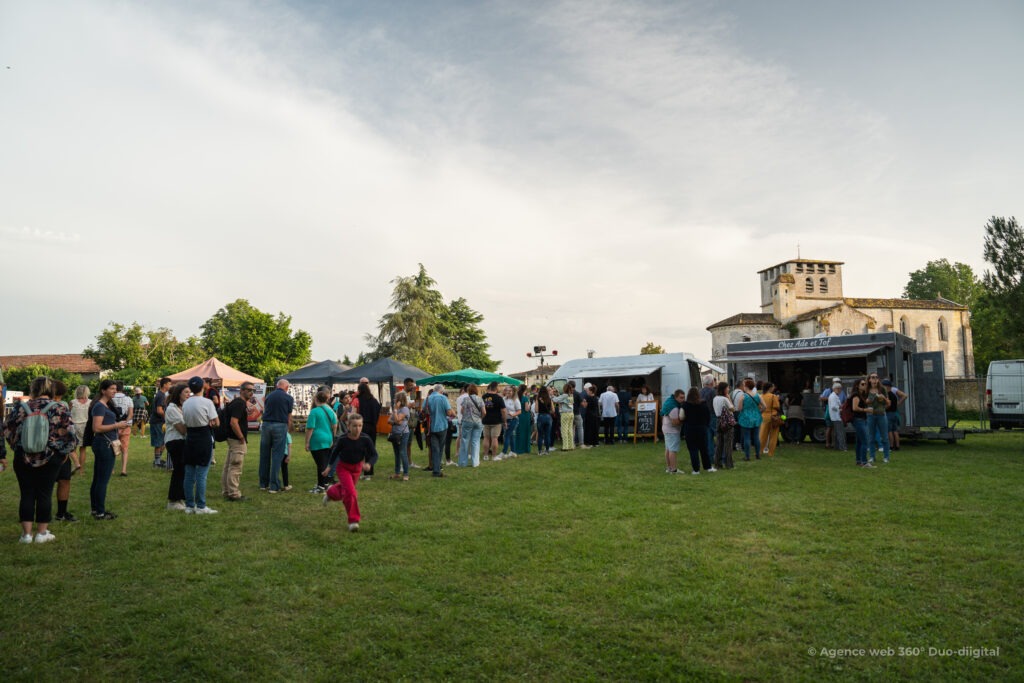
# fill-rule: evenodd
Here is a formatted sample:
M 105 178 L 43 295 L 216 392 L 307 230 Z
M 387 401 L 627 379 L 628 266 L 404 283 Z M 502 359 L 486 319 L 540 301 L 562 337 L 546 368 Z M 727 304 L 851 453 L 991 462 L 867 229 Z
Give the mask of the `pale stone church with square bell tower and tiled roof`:
M 974 377 L 971 312 L 947 299 L 855 299 L 843 294 L 843 262 L 798 258 L 758 271 L 761 312 L 708 328 L 712 359 L 726 344 L 798 337 L 898 332 L 919 351 L 942 351 L 945 375 Z

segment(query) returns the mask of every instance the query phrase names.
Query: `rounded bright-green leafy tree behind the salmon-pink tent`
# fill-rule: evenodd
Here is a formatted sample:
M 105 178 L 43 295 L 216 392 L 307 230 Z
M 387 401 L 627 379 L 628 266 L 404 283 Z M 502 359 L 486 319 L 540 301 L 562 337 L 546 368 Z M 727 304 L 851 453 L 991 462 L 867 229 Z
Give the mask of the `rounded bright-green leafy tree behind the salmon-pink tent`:
M 309 362 L 312 337 L 292 332 L 292 317 L 255 308 L 245 299 L 225 305 L 203 324 L 200 337 L 207 353 L 244 373 L 273 382 Z

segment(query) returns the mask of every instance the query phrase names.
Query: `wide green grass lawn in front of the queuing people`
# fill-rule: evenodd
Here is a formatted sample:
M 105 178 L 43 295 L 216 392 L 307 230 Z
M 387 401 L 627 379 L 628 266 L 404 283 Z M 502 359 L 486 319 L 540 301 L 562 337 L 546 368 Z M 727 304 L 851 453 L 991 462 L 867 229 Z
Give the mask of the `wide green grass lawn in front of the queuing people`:
M 931 681 L 1024 667 L 1022 432 L 904 445 L 873 471 L 805 444 L 669 476 L 645 444 L 409 482 L 386 480 L 381 439 L 358 533 L 304 493 L 301 447 L 295 490 L 258 492 L 256 440 L 250 500 L 221 503 L 218 465 L 221 514 L 196 517 L 164 510 L 168 475 L 136 439 L 110 486 L 121 517 L 55 523 L 46 546 L 16 543 L 16 481 L 0 476 L 0 680 Z M 86 516 L 88 481 L 71 509 Z M 999 654 L 929 656 L 964 646 Z

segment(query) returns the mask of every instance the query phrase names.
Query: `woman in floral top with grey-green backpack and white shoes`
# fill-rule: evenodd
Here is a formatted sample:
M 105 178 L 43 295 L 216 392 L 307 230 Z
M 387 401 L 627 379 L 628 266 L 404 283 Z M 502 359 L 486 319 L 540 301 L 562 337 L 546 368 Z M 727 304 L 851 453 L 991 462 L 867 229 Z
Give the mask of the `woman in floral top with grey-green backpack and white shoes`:
M 13 451 L 14 474 L 22 492 L 19 543 L 49 543 L 56 538 L 49 531 L 53 484 L 77 439 L 67 405 L 53 400 L 50 378 L 33 380 L 29 394 L 29 400 L 19 402 L 7 416 L 3 433 Z

